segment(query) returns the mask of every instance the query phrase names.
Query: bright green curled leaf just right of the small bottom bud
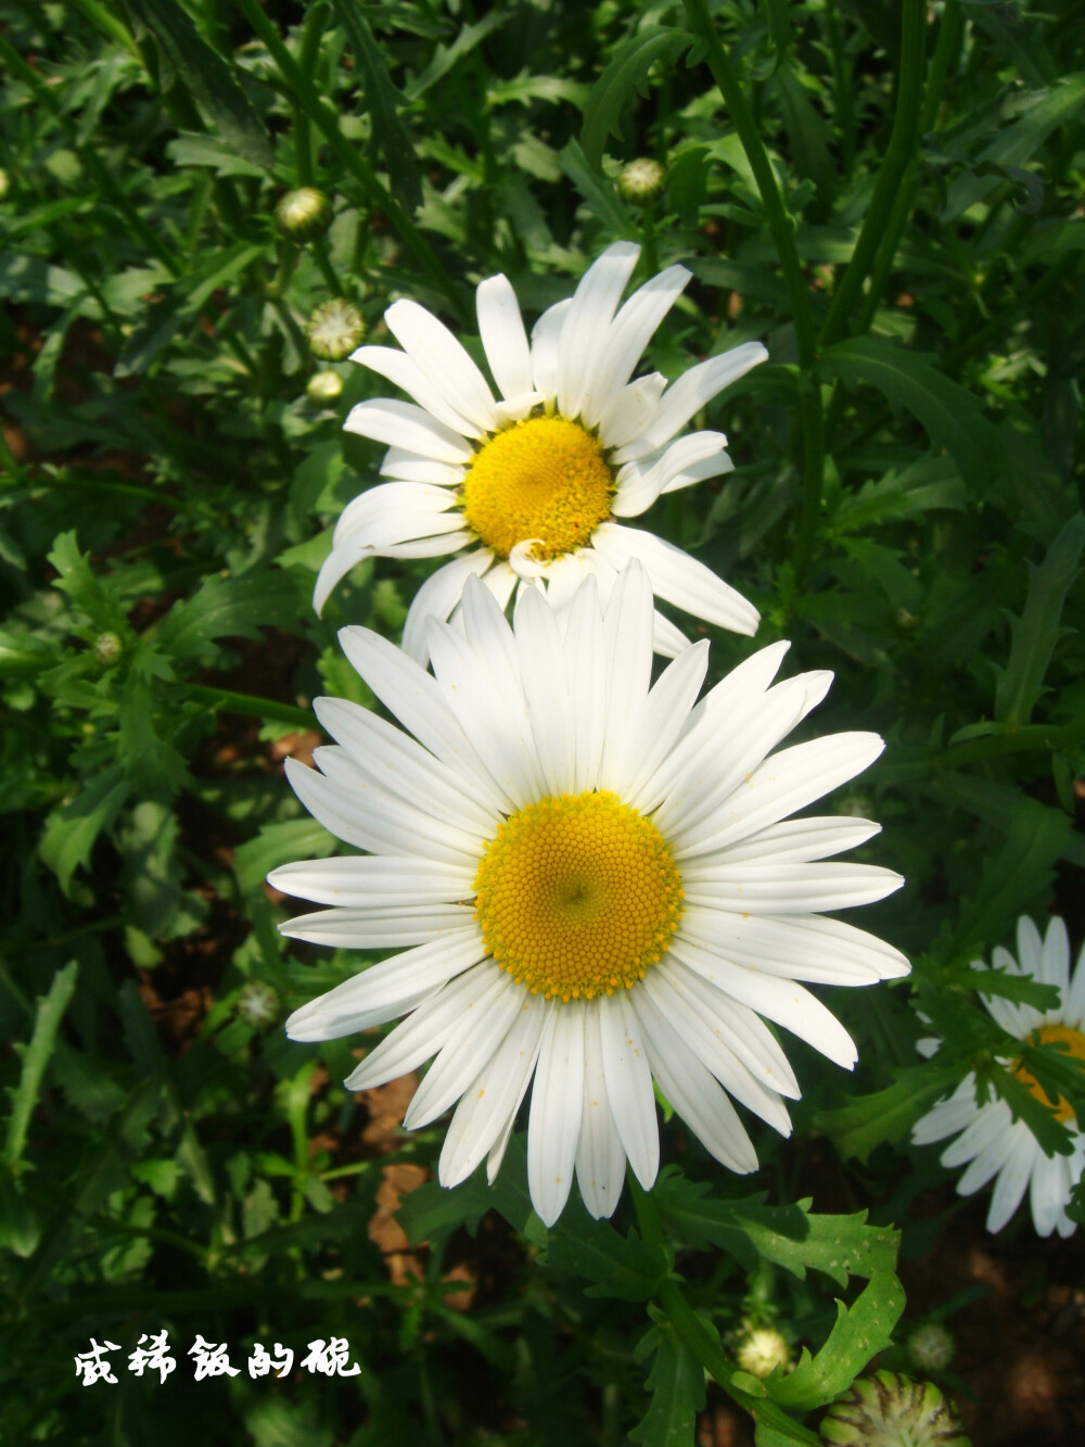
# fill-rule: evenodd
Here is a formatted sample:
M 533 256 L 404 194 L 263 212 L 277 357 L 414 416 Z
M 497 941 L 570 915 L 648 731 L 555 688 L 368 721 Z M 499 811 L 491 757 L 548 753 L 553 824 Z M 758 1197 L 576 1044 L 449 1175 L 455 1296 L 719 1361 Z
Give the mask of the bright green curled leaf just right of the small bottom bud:
M 867 1363 L 893 1343 L 893 1328 L 904 1311 L 904 1288 L 891 1270 L 878 1270 L 848 1308 L 836 1302 L 836 1325 L 816 1357 L 803 1347 L 788 1376 L 774 1373 L 767 1386 L 773 1401 L 810 1412 L 846 1391 Z

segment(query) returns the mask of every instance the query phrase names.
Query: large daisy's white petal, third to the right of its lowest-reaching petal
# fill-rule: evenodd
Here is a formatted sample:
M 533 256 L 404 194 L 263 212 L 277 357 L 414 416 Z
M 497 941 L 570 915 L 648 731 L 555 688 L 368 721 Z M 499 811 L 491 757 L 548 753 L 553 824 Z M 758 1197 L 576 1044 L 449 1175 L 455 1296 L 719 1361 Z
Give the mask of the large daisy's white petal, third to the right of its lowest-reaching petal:
M 749 1136 L 712 1074 L 644 991 L 635 993 L 634 1009 L 652 1075 L 671 1106 L 716 1160 L 739 1175 L 757 1171 L 757 1152 Z

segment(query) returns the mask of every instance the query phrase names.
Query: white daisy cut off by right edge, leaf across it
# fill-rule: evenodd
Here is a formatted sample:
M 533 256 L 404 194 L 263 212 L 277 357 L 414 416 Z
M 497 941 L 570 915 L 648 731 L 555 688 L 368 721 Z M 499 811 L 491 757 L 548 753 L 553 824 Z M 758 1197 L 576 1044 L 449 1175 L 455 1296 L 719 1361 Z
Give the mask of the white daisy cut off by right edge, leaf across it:
M 982 968 L 982 961 L 977 959 L 974 964 Z M 1056 985 L 1060 996 L 1059 1004 L 1046 1014 L 1030 1004 L 982 996 L 998 1024 L 1018 1040 L 1060 1045 L 1075 1059 L 1085 1061 L 1085 949 L 1078 955 L 1071 983 L 1071 945 L 1063 922 L 1053 919 L 1042 941 L 1036 925 L 1023 915 L 1017 920 L 1017 959 L 1008 949 L 998 946 L 991 955 L 991 964 L 1007 974 L 1031 975 L 1040 984 Z M 920 1048 L 924 1055 L 932 1055 L 939 1043 L 923 1040 Z M 1060 1098 L 1052 1104 L 1039 1081 L 1020 1062 L 1007 1059 L 1001 1064 L 1055 1113 L 1056 1120 L 1071 1127 L 1073 1150 L 1069 1156 L 1044 1155 L 1029 1126 L 1024 1120 L 1013 1119 L 1004 1100 L 979 1104 L 972 1072 L 952 1095 L 940 1100 L 914 1124 L 911 1139 L 917 1146 L 926 1146 L 961 1132 L 942 1152 L 940 1160 L 949 1168 L 968 1162 L 956 1187 L 961 1195 L 972 1195 L 995 1178 L 991 1210 L 987 1213 L 988 1231 L 1001 1231 L 1027 1189 L 1037 1233 L 1050 1236 L 1058 1229 L 1059 1236 L 1072 1236 L 1076 1227 L 1066 1215 L 1066 1205 L 1085 1169 L 1085 1132 L 1078 1127 L 1068 1100 Z

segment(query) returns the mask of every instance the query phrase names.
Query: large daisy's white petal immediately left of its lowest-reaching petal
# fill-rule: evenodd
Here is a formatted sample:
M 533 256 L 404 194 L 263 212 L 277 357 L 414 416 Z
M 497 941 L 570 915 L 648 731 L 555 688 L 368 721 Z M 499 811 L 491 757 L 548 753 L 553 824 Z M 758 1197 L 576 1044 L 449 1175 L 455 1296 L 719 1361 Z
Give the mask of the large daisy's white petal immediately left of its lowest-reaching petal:
M 505 1124 L 515 1119 L 535 1068 L 544 1019 L 544 1001 L 524 996 L 515 1022 L 448 1123 L 437 1169 L 441 1185 L 466 1181 Z

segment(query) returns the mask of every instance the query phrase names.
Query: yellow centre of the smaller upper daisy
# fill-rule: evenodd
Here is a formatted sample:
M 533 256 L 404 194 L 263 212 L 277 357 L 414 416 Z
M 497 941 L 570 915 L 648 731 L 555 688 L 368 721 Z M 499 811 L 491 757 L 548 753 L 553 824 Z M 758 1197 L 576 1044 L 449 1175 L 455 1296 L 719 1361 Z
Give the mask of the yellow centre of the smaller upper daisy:
M 558 557 L 610 515 L 615 482 L 603 449 L 579 423 L 532 417 L 483 444 L 463 482 L 463 517 L 499 557 L 538 538 Z

